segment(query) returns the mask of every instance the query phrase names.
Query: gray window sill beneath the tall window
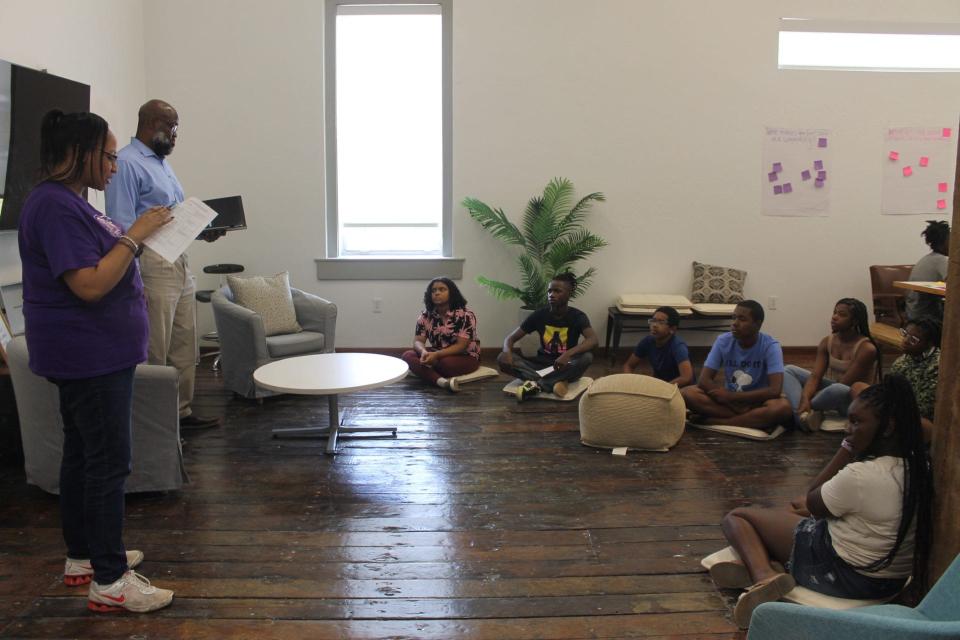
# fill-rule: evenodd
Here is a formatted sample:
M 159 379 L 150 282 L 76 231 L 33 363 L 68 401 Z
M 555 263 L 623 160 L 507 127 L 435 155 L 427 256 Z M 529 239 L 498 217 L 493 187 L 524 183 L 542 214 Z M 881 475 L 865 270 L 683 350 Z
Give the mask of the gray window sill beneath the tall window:
M 463 258 L 316 258 L 317 280 L 463 278 Z

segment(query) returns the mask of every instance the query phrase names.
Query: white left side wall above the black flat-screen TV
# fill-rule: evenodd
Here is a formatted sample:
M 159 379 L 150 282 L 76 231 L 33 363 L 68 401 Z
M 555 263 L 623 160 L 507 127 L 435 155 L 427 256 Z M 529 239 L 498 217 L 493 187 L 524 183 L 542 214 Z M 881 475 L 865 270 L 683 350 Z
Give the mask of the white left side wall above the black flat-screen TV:
M 121 144 L 136 128 L 146 87 L 140 0 L 0 0 L 0 58 L 90 85 L 91 111 Z M 103 194 L 90 200 L 103 209 Z M 18 280 L 17 234 L 0 233 L 0 282 Z

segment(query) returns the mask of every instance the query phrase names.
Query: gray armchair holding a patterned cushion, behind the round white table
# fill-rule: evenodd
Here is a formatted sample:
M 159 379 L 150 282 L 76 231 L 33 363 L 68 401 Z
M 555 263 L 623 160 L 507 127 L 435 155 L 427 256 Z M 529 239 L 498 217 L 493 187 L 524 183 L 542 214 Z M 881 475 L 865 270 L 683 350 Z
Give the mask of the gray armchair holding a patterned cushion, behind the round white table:
M 332 353 L 337 328 L 337 305 L 290 288 L 300 333 L 265 336 L 263 320 L 233 301 L 230 287 L 210 296 L 220 338 L 220 367 L 224 387 L 245 398 L 273 395 L 253 381 L 253 372 L 268 362 L 311 353 Z

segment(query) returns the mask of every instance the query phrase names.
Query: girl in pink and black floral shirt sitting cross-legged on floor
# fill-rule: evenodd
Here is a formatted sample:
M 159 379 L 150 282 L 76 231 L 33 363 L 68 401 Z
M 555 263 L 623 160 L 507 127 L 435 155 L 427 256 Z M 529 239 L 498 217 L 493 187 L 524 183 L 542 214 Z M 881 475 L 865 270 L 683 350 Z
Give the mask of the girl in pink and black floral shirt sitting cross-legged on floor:
M 457 392 L 457 376 L 480 367 L 477 317 L 467 309 L 466 299 L 449 278 L 430 281 L 423 294 L 423 305 L 413 349 L 404 352 L 403 360 L 418 377 Z

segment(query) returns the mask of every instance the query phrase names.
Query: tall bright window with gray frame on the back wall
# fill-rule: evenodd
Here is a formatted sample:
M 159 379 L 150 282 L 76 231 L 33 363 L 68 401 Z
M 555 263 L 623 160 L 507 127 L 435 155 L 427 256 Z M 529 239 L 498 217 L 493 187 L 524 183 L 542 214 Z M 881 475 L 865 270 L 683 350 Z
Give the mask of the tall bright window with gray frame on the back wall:
M 327 255 L 449 256 L 450 0 L 327 0 Z

